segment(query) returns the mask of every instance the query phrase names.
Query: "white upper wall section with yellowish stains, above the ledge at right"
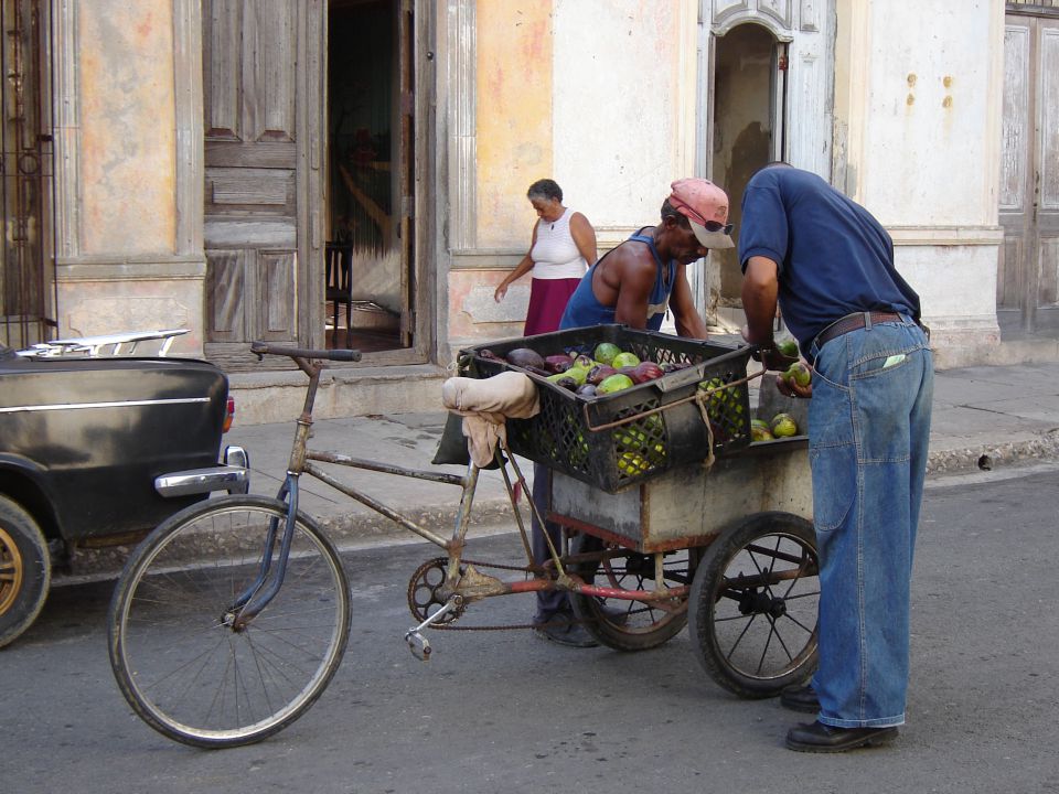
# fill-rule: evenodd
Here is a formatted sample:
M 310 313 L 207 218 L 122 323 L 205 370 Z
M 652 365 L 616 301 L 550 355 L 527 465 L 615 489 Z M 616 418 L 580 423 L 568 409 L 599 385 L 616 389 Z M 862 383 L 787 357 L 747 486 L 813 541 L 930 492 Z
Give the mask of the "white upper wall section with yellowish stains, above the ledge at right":
M 857 187 L 884 224 L 996 224 L 995 1 L 870 3 Z

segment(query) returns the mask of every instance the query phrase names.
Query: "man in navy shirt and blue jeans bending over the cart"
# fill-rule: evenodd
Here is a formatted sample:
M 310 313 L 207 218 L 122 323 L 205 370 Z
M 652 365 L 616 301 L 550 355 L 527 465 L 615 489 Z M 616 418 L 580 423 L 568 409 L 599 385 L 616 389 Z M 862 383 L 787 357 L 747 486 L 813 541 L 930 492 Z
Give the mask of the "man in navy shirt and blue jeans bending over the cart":
M 933 362 L 919 297 L 864 207 L 815 174 L 774 163 L 742 198 L 744 335 L 769 368 L 777 303 L 813 365 L 806 387 L 820 555 L 820 668 L 781 695 L 816 721 L 787 745 L 842 752 L 905 722 L 909 587 L 927 471 Z

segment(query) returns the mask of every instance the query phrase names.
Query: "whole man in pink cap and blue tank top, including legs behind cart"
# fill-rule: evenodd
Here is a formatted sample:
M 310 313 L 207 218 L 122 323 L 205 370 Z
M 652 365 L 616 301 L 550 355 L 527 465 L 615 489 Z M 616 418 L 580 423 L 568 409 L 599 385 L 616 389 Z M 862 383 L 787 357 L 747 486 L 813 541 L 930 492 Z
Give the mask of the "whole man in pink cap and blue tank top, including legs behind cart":
M 728 196 L 704 179 L 677 180 L 671 191 L 657 226 L 644 226 L 585 273 L 566 304 L 559 330 L 617 322 L 657 331 L 671 309 L 681 336 L 706 339 L 706 323 L 695 309 L 685 270 L 710 248 L 734 247 L 728 236 Z M 547 469 L 535 465 L 533 501 L 541 515 L 550 501 L 549 483 Z M 549 552 L 536 515 L 532 524 L 534 558 L 544 562 Z M 553 543 L 558 544 L 558 525 L 545 524 Z M 596 644 L 574 620 L 564 592 L 538 592 L 534 622 L 546 640 L 575 647 Z

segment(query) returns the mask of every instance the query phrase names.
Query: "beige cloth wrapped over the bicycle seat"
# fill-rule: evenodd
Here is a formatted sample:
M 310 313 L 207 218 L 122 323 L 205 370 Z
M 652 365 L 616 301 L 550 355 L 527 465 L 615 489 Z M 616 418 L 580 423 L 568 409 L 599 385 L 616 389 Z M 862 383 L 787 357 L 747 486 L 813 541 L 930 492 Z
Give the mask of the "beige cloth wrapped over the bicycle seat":
M 541 411 L 537 387 L 514 372 L 484 379 L 451 377 L 441 386 L 441 401 L 463 417 L 467 448 L 478 466 L 493 460 L 498 441 L 507 443 L 509 418 L 528 419 Z

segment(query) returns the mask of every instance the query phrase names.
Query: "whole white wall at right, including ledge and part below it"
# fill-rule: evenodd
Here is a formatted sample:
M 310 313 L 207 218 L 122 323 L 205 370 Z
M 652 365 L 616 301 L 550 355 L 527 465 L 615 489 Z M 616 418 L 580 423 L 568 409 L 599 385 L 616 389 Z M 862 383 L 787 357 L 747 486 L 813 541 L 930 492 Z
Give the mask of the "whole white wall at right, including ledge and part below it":
M 914 24 L 879 0 L 837 11 L 839 186 L 889 229 L 940 361 L 966 363 L 999 343 L 1003 0 L 921 3 Z

